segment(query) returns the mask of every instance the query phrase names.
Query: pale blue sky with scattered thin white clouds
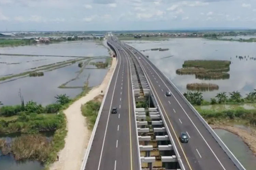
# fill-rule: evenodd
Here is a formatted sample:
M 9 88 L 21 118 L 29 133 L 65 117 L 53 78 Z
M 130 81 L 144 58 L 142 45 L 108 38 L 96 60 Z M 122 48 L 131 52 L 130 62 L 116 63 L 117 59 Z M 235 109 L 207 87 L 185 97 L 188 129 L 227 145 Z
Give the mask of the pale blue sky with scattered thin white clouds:
M 0 31 L 256 28 L 256 0 L 0 0 Z

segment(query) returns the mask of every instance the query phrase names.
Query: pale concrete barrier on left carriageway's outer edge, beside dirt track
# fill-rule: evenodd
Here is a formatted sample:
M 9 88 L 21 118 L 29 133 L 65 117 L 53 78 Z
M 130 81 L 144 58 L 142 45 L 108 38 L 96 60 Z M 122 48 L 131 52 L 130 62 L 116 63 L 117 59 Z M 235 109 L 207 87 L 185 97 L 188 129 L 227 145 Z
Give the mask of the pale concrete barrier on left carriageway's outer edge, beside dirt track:
M 107 44 L 108 44 L 109 46 L 111 46 L 111 44 L 109 44 L 108 42 L 107 42 Z M 117 62 L 116 62 L 116 63 L 118 63 L 118 57 L 117 57 L 117 55 L 116 55 L 116 59 L 117 59 Z M 105 95 L 104 95 L 103 100 L 102 100 L 102 103 L 101 103 L 101 105 L 100 105 L 100 109 L 99 109 L 99 112 L 98 112 L 98 116 L 97 116 L 97 119 L 96 119 L 96 121 L 95 121 L 95 125 L 94 125 L 93 131 L 92 131 L 92 133 L 91 133 L 91 137 L 90 137 L 90 140 L 89 140 L 89 143 L 88 143 L 88 147 L 87 147 L 87 149 L 86 149 L 86 152 L 85 152 L 85 155 L 84 155 L 84 159 L 83 159 L 83 163 L 82 163 L 82 165 L 81 165 L 80 170 L 84 170 L 84 169 L 85 169 L 85 166 L 86 166 L 86 163 L 87 163 L 87 160 L 88 160 L 88 156 L 89 156 L 89 153 L 90 153 L 90 150 L 91 150 L 91 145 L 93 144 L 93 140 L 94 140 L 94 136 L 95 136 L 95 133 L 96 133 L 96 129 L 97 129 L 97 127 L 98 127 L 98 123 L 99 123 L 100 115 L 101 115 L 101 112 L 102 112 L 102 108 L 103 108 L 103 105 L 104 105 L 104 103 L 105 103 L 106 95 L 107 95 L 107 93 L 108 93 L 108 91 L 109 91 L 109 86 L 110 86 L 110 84 L 111 84 L 113 75 L 114 75 L 114 73 L 115 73 L 116 66 L 117 66 L 117 64 L 115 65 L 114 71 L 113 71 L 113 73 L 112 73 L 112 75 L 111 75 L 109 84 L 108 84 L 108 86 L 107 86 L 107 88 L 106 88 L 106 91 L 105 91 Z

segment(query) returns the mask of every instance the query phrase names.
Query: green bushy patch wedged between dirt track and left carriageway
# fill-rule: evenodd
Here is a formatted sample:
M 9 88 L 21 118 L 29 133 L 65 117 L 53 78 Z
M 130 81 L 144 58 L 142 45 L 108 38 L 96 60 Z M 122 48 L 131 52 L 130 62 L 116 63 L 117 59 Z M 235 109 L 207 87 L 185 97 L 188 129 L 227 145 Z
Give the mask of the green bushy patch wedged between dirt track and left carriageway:
M 88 122 L 88 128 L 93 129 L 95 121 L 97 119 L 101 102 L 99 101 L 89 101 L 81 106 L 82 114 L 86 117 Z

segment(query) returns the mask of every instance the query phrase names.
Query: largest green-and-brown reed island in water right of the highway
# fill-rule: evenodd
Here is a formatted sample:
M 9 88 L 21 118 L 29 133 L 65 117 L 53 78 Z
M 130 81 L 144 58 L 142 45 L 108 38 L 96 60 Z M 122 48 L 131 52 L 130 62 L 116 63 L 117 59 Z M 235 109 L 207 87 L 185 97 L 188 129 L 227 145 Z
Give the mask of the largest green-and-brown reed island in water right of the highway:
M 196 79 L 229 79 L 230 61 L 225 60 L 187 60 L 177 69 L 177 74 L 195 74 Z

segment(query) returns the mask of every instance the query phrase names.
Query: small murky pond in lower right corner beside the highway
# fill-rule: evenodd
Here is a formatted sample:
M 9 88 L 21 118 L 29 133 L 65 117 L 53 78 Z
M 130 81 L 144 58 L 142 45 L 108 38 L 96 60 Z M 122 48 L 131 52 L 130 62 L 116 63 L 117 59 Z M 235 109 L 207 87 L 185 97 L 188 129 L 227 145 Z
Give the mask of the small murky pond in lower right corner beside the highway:
M 214 131 L 246 170 L 255 170 L 256 157 L 239 136 L 222 129 L 214 129 Z

